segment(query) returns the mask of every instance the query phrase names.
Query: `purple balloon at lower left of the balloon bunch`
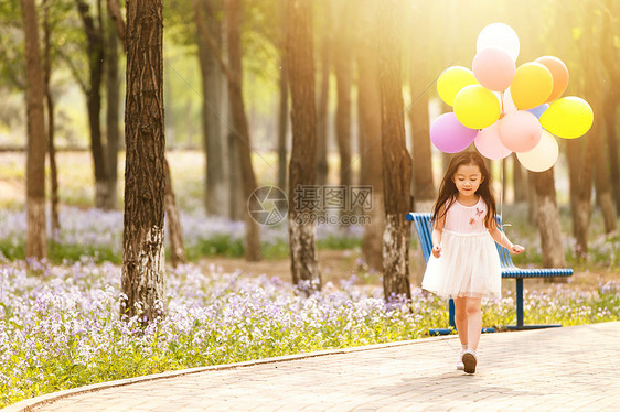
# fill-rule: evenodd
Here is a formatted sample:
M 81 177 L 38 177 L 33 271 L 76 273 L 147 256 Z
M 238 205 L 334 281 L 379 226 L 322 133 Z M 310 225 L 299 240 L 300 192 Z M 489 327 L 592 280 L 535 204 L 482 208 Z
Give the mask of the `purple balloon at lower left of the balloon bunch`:
M 453 112 L 439 116 L 430 126 L 430 141 L 445 153 L 467 149 L 477 134 L 478 130 L 462 126 Z

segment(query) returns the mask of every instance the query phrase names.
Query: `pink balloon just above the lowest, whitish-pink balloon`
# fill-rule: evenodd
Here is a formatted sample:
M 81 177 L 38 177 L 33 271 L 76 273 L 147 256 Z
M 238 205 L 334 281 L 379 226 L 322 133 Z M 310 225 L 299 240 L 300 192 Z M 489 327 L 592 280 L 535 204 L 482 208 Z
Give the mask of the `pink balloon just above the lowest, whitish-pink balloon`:
M 500 140 L 513 152 L 528 152 L 538 144 L 543 128 L 536 116 L 526 110 L 507 113 L 499 120 Z

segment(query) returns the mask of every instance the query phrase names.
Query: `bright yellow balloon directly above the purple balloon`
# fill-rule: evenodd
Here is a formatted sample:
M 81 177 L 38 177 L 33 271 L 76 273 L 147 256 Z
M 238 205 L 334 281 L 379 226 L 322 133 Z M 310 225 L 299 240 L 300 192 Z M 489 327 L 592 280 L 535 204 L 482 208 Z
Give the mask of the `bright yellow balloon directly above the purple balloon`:
M 500 118 L 500 101 L 493 91 L 480 86 L 466 86 L 455 97 L 455 115 L 467 128 L 484 129 Z

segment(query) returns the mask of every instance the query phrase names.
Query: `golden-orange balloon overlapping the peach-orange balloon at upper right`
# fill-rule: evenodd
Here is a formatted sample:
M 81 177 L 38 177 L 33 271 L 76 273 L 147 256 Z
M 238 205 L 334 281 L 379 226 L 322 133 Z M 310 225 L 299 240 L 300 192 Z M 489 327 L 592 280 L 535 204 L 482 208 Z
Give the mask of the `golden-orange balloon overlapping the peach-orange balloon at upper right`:
M 514 73 L 510 93 L 516 108 L 527 110 L 547 101 L 553 88 L 554 78 L 548 68 L 541 63 L 525 63 Z

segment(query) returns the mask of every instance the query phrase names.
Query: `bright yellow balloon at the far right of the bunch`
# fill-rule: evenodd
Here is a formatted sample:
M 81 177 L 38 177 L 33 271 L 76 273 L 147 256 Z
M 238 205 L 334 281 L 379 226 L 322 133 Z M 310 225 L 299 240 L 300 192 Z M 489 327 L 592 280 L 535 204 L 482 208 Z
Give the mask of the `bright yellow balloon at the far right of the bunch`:
M 594 121 L 595 113 L 590 105 L 576 96 L 557 99 L 541 116 L 541 126 L 564 139 L 586 134 Z

